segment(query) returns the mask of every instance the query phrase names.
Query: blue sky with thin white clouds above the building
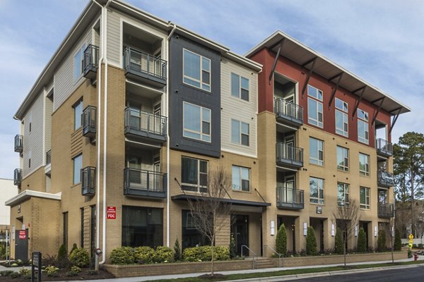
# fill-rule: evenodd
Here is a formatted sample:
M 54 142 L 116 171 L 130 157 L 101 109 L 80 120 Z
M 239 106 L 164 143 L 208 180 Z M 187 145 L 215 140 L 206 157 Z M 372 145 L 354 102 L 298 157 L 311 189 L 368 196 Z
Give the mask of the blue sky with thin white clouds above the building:
M 245 54 L 276 30 L 412 109 L 392 131 L 424 132 L 424 1 L 126 0 Z M 0 0 L 0 178 L 19 167 L 18 106 L 88 0 Z

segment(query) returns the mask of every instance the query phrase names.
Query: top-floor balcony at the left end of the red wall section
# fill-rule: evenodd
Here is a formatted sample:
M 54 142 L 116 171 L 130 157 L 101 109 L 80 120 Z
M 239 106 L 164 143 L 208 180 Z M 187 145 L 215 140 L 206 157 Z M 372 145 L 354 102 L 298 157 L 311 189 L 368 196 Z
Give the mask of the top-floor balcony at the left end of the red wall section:
M 285 123 L 295 128 L 303 124 L 303 108 L 284 99 L 274 100 L 274 113 L 280 123 Z

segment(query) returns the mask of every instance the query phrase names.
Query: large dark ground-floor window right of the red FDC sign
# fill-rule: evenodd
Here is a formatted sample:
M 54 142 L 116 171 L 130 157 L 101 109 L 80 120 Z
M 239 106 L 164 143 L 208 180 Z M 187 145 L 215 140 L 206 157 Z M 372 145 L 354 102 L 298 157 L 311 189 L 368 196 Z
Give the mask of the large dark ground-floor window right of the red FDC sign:
M 163 209 L 122 206 L 122 246 L 163 245 Z

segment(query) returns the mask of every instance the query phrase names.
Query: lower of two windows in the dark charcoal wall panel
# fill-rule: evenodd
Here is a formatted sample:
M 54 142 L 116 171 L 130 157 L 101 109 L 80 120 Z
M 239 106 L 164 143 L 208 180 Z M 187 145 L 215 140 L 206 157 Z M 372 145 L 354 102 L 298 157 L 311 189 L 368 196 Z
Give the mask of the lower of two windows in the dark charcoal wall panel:
M 211 110 L 187 102 L 182 106 L 183 136 L 211 142 Z

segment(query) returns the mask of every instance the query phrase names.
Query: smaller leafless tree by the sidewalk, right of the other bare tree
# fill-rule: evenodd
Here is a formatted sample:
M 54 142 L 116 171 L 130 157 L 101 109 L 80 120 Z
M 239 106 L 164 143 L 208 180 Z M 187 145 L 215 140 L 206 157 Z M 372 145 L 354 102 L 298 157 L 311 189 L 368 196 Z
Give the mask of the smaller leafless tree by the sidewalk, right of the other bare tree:
M 359 223 L 359 205 L 355 200 L 348 200 L 343 204 L 339 203 L 333 216 L 337 221 L 337 228 L 340 228 L 343 232 L 343 260 L 346 266 L 346 244 L 348 239 L 352 237 L 355 226 Z

